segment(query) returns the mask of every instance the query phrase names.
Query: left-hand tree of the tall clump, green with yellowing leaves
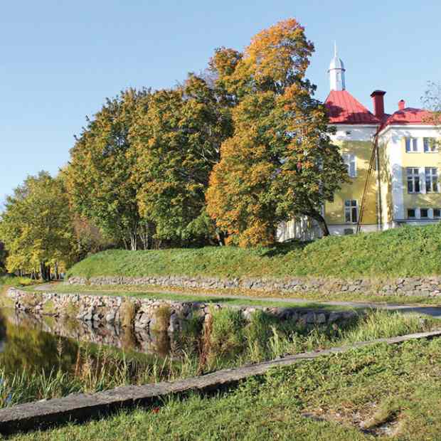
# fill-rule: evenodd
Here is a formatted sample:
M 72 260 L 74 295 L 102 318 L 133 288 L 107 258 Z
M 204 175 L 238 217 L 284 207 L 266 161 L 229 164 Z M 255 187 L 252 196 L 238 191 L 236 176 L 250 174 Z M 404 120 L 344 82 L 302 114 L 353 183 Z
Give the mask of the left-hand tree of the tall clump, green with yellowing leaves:
M 129 131 L 139 108 L 147 110 L 149 90 L 126 90 L 107 99 L 77 137 L 65 171 L 75 212 L 107 237 L 139 248 L 144 219 L 139 215 L 137 162 Z

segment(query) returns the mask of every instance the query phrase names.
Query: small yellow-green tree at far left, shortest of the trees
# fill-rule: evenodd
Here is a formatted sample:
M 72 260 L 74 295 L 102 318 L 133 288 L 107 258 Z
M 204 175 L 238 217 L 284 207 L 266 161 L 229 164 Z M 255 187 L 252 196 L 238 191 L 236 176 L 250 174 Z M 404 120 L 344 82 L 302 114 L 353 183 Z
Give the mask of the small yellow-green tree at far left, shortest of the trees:
M 0 216 L 9 272 L 39 272 L 43 280 L 58 276 L 75 258 L 72 213 L 59 178 L 41 172 L 29 176 L 6 198 Z

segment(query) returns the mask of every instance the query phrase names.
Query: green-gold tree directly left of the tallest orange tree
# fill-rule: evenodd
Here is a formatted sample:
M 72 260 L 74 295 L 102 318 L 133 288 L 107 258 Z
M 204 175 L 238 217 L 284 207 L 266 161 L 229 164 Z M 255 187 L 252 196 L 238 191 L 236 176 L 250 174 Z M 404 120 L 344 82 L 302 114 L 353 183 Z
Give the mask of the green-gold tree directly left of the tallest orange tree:
M 206 190 L 221 144 L 232 134 L 219 91 L 191 74 L 180 87 L 152 94 L 131 134 L 137 201 L 156 238 L 179 243 L 212 238 L 216 228 L 206 213 Z

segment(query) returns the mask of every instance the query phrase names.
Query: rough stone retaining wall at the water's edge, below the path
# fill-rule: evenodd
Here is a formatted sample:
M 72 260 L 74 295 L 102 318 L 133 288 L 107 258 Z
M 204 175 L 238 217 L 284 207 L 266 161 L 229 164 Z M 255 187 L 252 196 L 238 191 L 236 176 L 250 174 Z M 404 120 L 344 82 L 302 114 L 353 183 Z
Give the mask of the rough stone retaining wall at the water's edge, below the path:
M 203 302 L 175 302 L 172 300 L 137 299 L 87 294 L 51 294 L 46 292 L 23 292 L 11 288 L 8 296 L 15 300 L 18 311 L 53 317 L 71 317 L 83 322 L 107 323 L 116 326 L 130 326 L 139 330 L 179 332 L 186 321 L 205 321 L 212 309 L 228 307 L 223 304 Z M 320 309 L 286 307 L 234 307 L 245 319 L 256 309 L 262 309 L 281 320 L 302 324 L 329 324 L 351 319 L 355 312 L 330 312 Z

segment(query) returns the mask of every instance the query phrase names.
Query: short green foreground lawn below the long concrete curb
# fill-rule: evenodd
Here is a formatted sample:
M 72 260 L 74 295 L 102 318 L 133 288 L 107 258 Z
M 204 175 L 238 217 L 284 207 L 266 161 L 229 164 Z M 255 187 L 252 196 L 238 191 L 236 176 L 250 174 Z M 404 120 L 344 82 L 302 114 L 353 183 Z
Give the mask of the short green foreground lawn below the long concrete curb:
M 441 339 L 377 344 L 275 368 L 215 396 L 12 439 L 353 441 L 390 439 L 386 428 L 393 439 L 440 440 L 440 368 Z

